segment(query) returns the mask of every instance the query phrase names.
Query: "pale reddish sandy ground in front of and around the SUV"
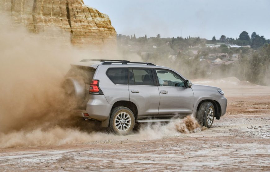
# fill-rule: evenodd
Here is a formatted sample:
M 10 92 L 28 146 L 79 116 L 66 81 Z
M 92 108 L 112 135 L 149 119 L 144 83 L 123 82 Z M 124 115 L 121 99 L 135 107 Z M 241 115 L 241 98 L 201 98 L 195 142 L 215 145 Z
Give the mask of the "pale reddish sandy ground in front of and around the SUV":
M 210 129 L 151 140 L 129 135 L 84 144 L 2 148 L 0 169 L 270 171 L 270 87 L 235 82 L 193 81 L 221 87 L 228 99 L 226 115 Z

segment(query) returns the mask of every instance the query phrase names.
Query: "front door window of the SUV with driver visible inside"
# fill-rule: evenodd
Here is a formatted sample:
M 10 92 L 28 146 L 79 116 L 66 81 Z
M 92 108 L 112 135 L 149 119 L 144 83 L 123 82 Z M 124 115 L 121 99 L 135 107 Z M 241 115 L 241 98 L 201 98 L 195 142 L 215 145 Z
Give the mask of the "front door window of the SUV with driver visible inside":
M 155 71 L 160 86 L 185 86 L 185 81 L 176 73 L 164 69 L 155 69 Z

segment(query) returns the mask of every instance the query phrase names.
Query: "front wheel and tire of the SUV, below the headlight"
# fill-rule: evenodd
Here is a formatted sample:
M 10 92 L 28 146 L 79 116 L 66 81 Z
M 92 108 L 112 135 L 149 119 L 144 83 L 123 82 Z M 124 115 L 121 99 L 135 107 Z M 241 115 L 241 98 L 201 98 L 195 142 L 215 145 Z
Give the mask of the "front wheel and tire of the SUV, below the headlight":
M 196 114 L 197 121 L 201 126 L 210 128 L 214 122 L 215 108 L 211 102 L 203 102 Z

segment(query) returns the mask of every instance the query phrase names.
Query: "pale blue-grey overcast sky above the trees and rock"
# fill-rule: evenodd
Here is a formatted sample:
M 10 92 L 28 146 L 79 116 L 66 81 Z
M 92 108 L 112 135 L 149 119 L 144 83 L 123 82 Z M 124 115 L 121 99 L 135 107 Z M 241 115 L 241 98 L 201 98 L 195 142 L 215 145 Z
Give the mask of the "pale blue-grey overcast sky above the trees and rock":
M 84 0 L 109 15 L 118 34 L 136 37 L 270 38 L 270 0 Z

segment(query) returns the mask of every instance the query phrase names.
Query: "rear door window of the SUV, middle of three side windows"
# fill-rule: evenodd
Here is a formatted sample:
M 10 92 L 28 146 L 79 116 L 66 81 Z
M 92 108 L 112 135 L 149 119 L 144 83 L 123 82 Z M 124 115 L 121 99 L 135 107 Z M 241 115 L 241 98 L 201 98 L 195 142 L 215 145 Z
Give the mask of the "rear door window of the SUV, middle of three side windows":
M 129 85 L 154 86 L 152 70 L 145 69 L 130 69 L 129 70 Z

